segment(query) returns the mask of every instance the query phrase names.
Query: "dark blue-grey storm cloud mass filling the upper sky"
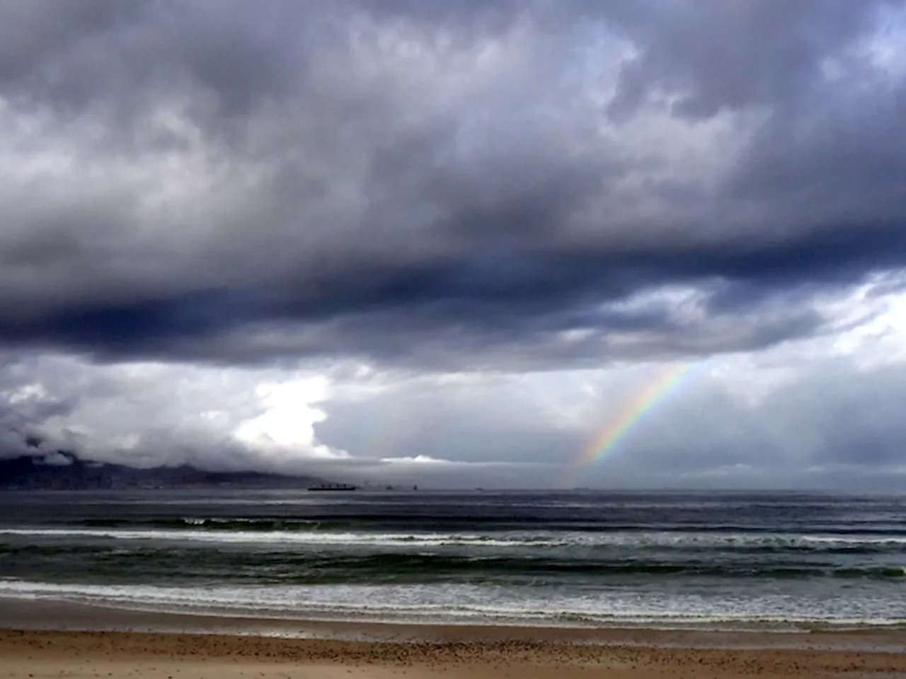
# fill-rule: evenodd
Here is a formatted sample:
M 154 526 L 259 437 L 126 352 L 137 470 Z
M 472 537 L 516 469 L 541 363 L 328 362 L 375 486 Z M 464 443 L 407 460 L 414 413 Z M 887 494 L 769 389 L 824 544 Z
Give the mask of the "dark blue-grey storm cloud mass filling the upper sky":
M 822 331 L 906 258 L 906 84 L 864 49 L 901 5 L 2 4 L 0 339 L 528 366 Z M 721 116 L 691 165 L 646 140 Z M 694 320 L 633 306 L 670 286 Z

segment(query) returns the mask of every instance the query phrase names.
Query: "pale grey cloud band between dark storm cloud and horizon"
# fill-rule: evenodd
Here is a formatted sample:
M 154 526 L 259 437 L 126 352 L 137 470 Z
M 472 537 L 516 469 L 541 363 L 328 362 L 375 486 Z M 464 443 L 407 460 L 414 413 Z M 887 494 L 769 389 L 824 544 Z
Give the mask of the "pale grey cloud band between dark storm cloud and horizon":
M 63 448 L 128 464 L 188 461 L 441 487 L 898 490 L 906 477 L 899 408 L 906 363 L 797 359 L 809 349 L 798 344 L 773 357 L 700 364 L 584 469 L 573 465 L 596 434 L 662 368 L 373 380 L 339 371 L 323 396 L 275 404 L 259 387 L 297 375 L 11 356 L 0 370 L 0 457 Z M 306 415 L 308 405 L 323 418 Z M 301 432 L 290 445 L 236 435 L 275 407 L 282 410 L 275 435 L 286 426 Z M 42 443 L 29 448 L 28 439 Z M 446 462 L 417 461 L 426 457 Z

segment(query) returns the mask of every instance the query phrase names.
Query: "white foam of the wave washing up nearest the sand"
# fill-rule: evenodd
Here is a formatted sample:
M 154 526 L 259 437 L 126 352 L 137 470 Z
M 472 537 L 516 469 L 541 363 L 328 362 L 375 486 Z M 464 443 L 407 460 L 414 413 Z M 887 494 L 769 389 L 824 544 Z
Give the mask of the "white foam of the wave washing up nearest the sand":
M 50 599 L 131 610 L 290 619 L 543 626 L 901 626 L 891 603 L 828 605 L 821 598 L 707 597 L 596 592 L 564 596 L 552 589 L 489 590 L 469 585 L 342 585 L 177 588 L 52 584 L 0 579 L 0 597 Z M 375 603 L 390 602 L 393 603 Z M 368 602 L 368 603 L 363 603 Z

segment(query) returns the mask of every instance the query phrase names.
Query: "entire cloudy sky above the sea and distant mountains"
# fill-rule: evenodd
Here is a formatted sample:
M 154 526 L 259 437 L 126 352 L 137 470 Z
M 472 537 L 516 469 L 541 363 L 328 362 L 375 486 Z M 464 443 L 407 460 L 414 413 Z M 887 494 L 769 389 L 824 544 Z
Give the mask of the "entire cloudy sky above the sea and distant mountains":
M 895 0 L 0 0 L 0 456 L 902 489 L 904 120 Z

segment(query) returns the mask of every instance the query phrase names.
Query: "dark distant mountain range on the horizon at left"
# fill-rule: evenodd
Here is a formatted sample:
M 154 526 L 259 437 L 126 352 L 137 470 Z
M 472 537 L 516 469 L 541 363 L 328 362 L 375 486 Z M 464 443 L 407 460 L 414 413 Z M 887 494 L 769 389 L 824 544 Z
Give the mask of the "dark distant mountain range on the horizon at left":
M 208 472 L 188 464 L 137 469 L 82 460 L 65 451 L 0 459 L 0 490 L 307 488 L 324 483 L 312 476 L 260 472 Z

